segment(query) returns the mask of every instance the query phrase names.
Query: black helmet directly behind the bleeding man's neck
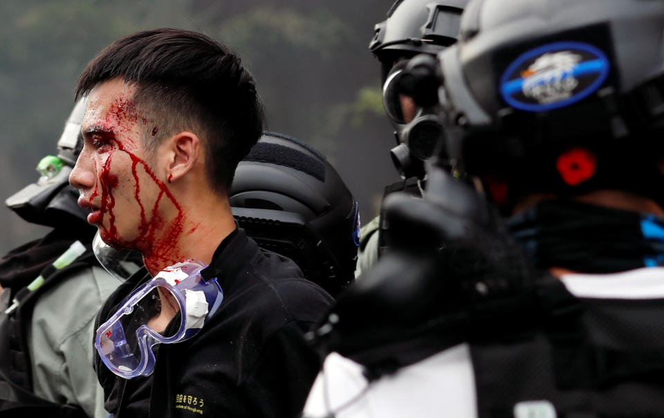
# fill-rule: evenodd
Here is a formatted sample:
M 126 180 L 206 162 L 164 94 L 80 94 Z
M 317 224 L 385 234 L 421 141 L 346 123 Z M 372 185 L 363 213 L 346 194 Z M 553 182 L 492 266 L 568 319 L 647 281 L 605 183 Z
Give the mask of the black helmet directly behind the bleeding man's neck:
M 266 132 L 241 161 L 228 194 L 239 226 L 291 258 L 335 296 L 354 278 L 360 215 L 344 181 L 315 149 Z

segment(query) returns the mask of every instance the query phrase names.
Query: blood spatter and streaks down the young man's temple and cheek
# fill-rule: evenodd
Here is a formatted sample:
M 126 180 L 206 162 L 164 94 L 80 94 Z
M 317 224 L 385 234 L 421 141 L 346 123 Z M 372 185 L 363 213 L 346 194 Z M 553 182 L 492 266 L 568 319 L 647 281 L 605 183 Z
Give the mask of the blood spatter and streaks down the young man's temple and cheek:
M 93 119 L 92 130 L 102 132 L 99 135 L 106 145 L 97 152 L 97 181 L 86 199 L 99 206 L 99 221 L 94 223 L 100 227 L 102 239 L 112 246 L 140 251 L 154 272 L 189 258 L 176 243 L 185 223 L 189 233 L 197 224 L 187 221 L 171 190 L 145 161 L 147 152 L 142 140 L 137 140 L 141 132 L 137 122 L 144 118 L 138 118 L 133 100 L 128 99 L 130 93 L 99 99 L 110 103 L 106 102 L 107 111 L 102 107 L 100 118 Z M 152 131 L 156 134 L 158 127 Z

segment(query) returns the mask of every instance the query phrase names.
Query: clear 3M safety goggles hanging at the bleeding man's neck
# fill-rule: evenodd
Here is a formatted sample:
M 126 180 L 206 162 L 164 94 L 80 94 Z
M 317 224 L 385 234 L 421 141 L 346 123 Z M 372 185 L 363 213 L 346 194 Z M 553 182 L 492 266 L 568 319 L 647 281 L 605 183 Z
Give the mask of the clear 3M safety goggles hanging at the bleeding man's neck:
M 167 267 L 124 299 L 95 335 L 104 364 L 124 379 L 154 371 L 154 347 L 196 335 L 221 305 L 223 291 L 216 278 L 208 282 L 206 266 L 187 260 Z

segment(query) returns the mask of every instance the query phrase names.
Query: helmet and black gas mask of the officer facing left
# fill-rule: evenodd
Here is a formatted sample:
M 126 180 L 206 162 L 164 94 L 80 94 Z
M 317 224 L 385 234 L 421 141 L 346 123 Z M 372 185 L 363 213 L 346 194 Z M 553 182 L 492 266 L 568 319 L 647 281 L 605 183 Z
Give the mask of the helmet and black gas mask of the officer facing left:
M 376 24 L 369 44 L 380 60 L 383 105 L 396 129 L 392 161 L 405 178 L 424 176 L 423 161 L 439 143 L 442 122 L 437 106 L 414 108 L 398 83 L 407 60 L 436 55 L 457 42 L 461 12 L 468 0 L 397 0 L 385 21 Z

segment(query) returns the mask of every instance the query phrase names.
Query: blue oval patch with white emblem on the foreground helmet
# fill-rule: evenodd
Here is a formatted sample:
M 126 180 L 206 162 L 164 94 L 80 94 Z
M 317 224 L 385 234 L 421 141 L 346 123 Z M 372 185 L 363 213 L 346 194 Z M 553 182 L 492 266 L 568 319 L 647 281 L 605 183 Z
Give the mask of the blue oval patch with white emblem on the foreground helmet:
M 581 42 L 556 42 L 520 55 L 500 80 L 500 93 L 515 109 L 548 111 L 587 98 L 607 80 L 609 60 Z

